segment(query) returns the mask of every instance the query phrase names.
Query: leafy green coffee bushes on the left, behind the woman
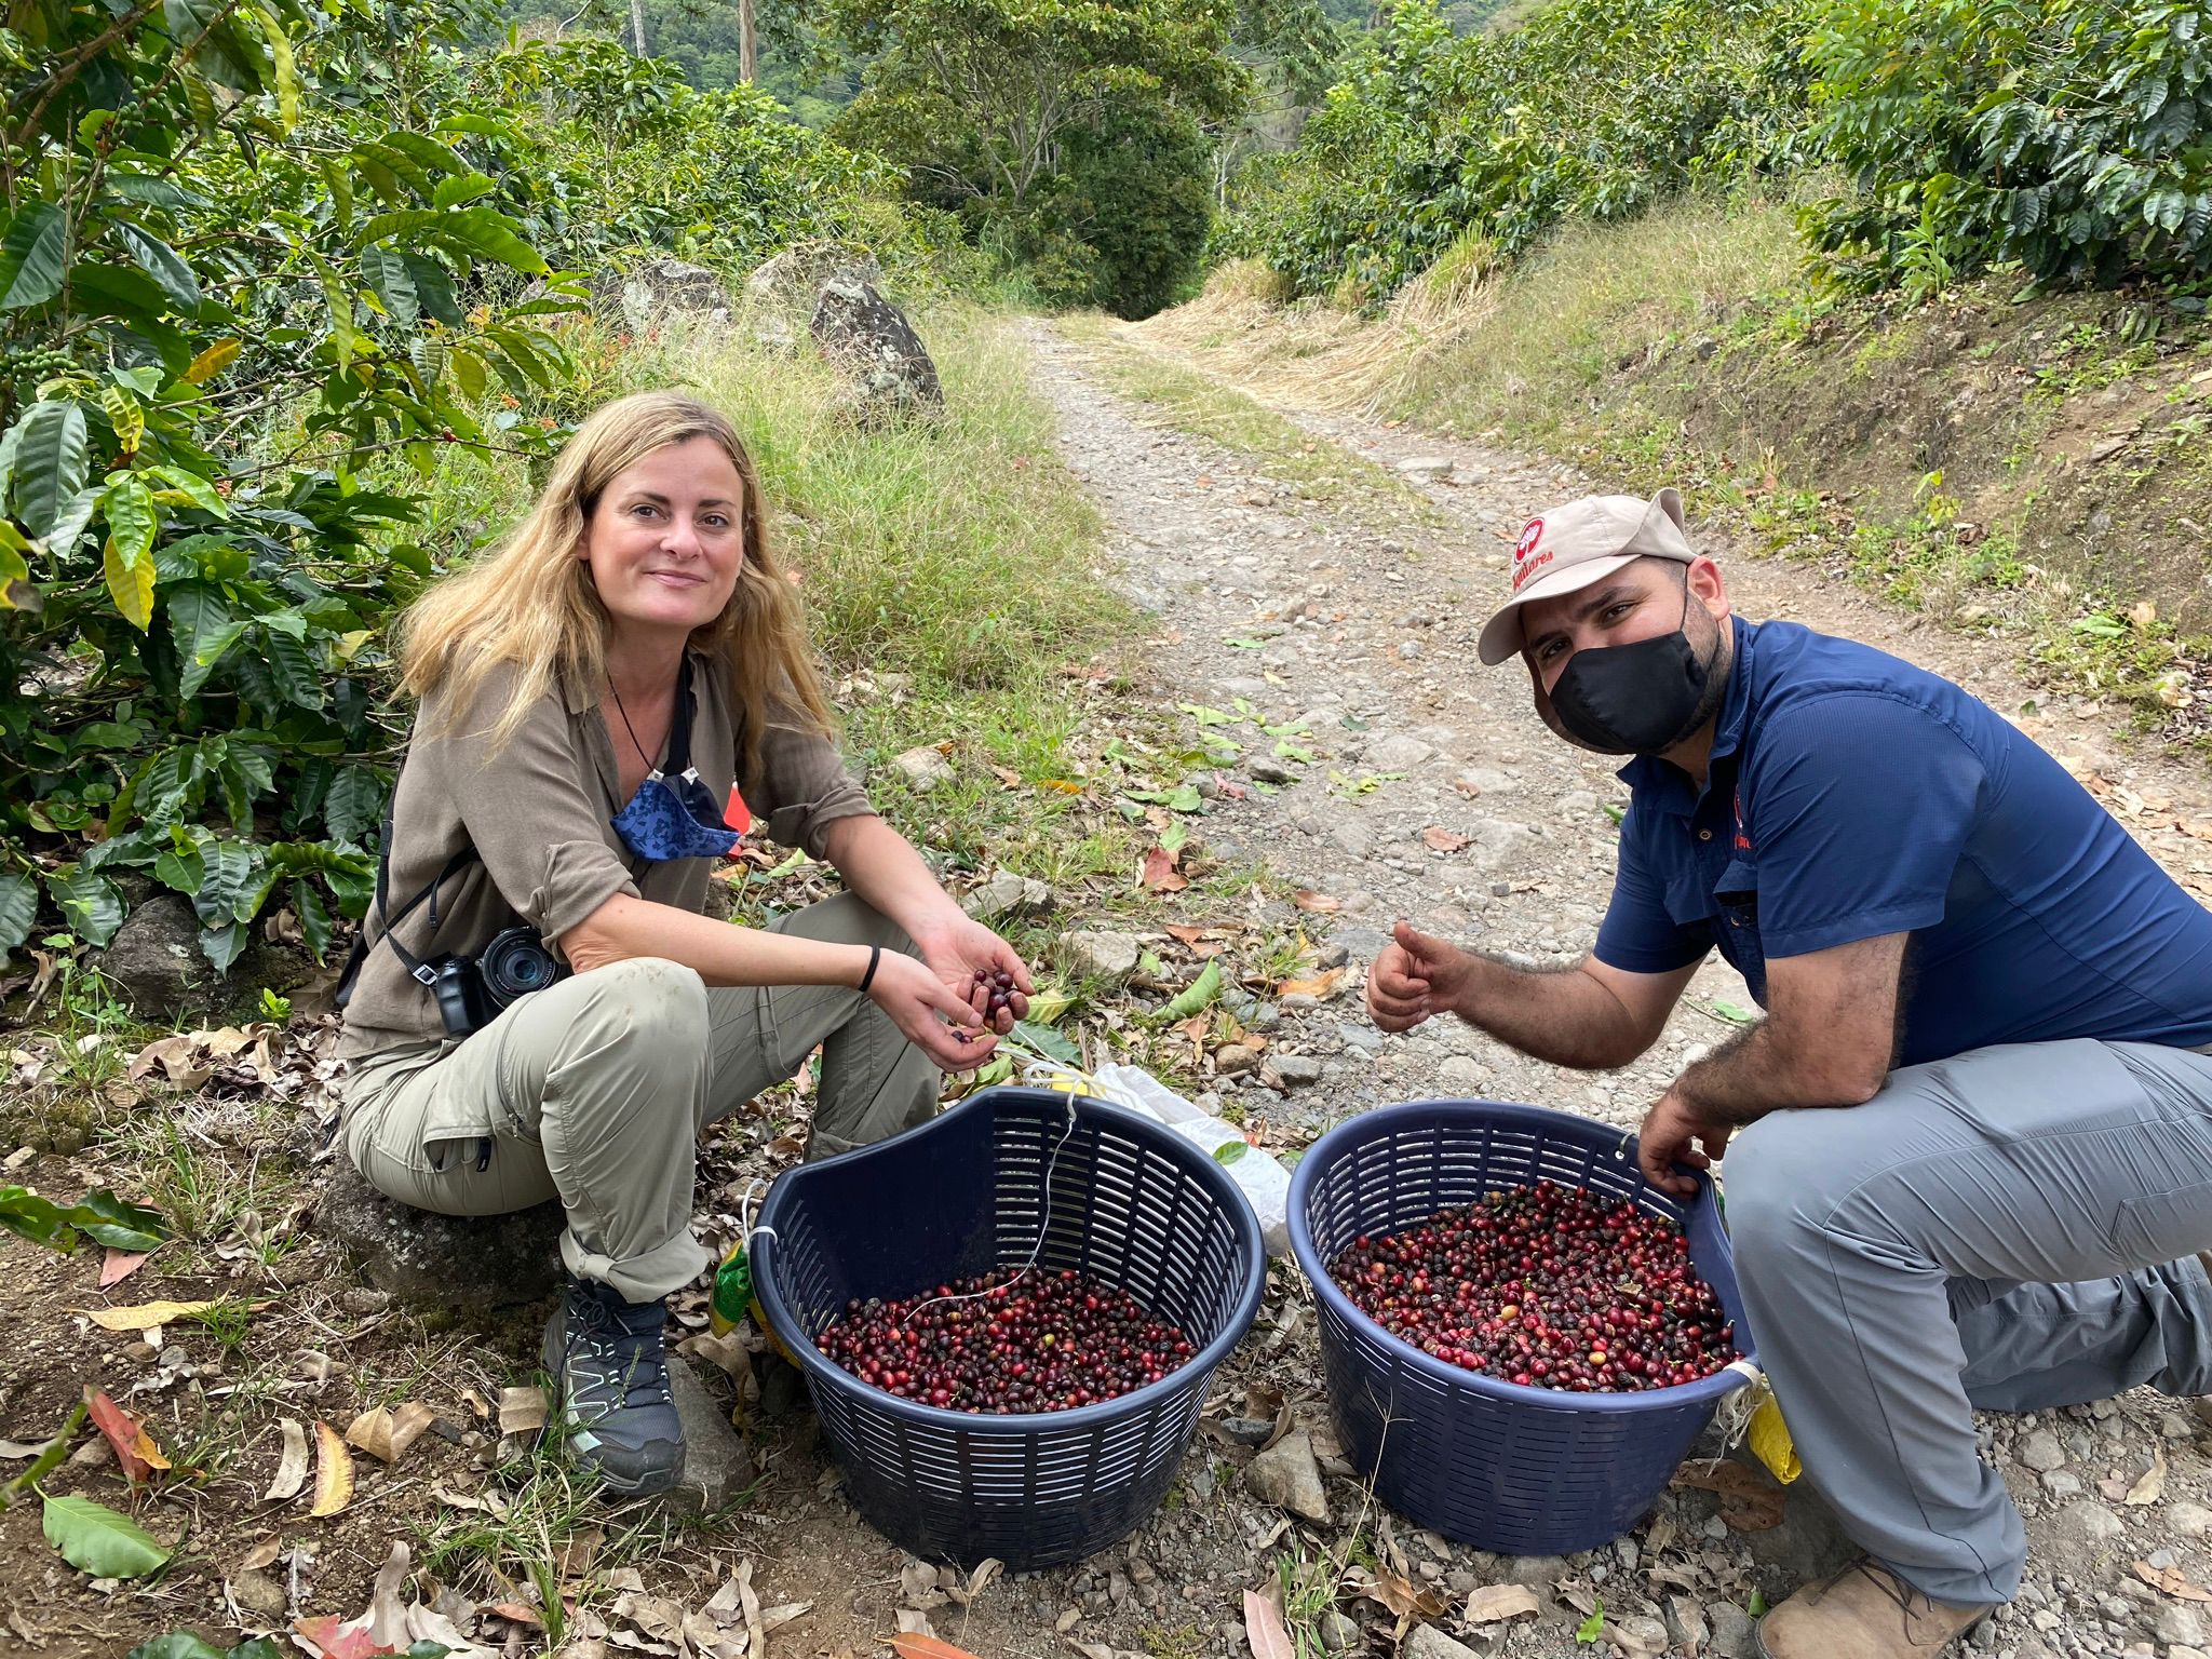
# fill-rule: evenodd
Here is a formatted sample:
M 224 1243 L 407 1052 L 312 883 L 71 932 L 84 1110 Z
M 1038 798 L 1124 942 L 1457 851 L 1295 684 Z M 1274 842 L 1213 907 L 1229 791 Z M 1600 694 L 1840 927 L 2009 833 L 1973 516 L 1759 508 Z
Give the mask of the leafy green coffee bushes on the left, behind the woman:
M 210 962 L 372 891 L 383 628 L 458 447 L 566 434 L 584 272 L 737 270 L 880 164 L 420 0 L 24 0 L 0 29 L 0 956 L 184 894 Z M 889 212 L 889 219 L 883 215 Z M 484 518 L 498 522 L 500 504 Z

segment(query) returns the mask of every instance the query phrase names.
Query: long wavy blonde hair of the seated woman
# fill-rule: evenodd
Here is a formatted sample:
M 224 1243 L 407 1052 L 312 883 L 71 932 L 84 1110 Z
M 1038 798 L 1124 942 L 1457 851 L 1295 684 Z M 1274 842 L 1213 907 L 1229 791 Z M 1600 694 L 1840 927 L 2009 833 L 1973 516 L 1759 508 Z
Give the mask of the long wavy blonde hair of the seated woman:
M 469 708 L 493 668 L 518 668 L 513 699 L 491 728 L 507 743 L 538 699 L 566 679 L 606 684 L 613 617 L 584 562 L 584 538 L 599 495 L 626 467 L 668 445 L 712 438 L 745 487 L 739 524 L 745 557 L 737 588 L 690 648 L 723 664 L 739 712 L 741 776 L 759 763 L 761 734 L 776 708 L 783 723 L 832 728 L 807 646 L 799 595 L 768 540 L 761 480 L 737 427 L 681 392 L 635 392 L 602 405 L 553 460 L 538 504 L 498 551 L 438 582 L 400 624 L 400 684 L 416 699 L 445 692 L 447 708 Z

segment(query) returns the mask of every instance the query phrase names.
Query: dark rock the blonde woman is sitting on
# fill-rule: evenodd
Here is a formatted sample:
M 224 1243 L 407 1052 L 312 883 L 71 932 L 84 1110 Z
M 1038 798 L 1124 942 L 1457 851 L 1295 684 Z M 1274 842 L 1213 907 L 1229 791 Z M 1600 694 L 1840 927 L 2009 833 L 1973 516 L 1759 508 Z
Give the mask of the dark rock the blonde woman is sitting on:
M 489 1312 L 560 1287 L 560 1203 L 498 1217 L 416 1210 L 361 1179 L 345 1152 L 327 1164 L 316 1230 L 361 1259 L 369 1283 L 400 1301 Z

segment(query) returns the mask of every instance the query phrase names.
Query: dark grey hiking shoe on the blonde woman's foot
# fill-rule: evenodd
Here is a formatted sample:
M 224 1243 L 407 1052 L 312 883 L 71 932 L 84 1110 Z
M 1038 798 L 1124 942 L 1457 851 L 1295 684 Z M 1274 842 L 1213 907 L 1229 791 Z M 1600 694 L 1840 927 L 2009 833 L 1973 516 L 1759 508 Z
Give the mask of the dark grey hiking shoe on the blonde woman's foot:
M 684 1469 L 684 1422 L 668 1394 L 661 1303 L 568 1279 L 546 1321 L 546 1371 L 568 1453 L 624 1495 L 668 1491 Z

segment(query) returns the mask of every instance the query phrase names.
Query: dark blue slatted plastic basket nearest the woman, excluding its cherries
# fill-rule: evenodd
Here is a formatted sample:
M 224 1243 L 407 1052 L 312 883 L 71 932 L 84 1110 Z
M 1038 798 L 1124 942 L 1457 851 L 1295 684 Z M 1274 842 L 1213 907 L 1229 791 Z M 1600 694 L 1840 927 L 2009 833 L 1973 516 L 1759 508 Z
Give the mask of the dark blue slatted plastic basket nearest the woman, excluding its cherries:
M 1168 1495 L 1214 1367 L 1250 1329 L 1267 1256 L 1252 1206 L 1192 1141 L 1046 1088 L 989 1088 L 922 1128 L 779 1177 L 754 1283 L 807 1371 L 860 1515 L 933 1562 L 1077 1562 Z M 971 1416 L 874 1389 L 814 1345 L 854 1296 L 911 1296 L 1018 1267 L 1075 1267 L 1183 1329 L 1188 1365 L 1071 1411 Z

